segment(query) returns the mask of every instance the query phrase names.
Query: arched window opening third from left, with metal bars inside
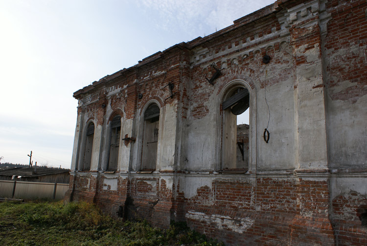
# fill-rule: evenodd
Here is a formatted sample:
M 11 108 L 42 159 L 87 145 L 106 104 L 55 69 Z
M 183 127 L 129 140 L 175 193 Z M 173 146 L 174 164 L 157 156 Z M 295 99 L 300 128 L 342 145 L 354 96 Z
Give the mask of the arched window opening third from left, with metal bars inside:
M 141 155 L 142 171 L 154 171 L 157 165 L 160 108 L 150 105 L 144 112 L 143 146 Z

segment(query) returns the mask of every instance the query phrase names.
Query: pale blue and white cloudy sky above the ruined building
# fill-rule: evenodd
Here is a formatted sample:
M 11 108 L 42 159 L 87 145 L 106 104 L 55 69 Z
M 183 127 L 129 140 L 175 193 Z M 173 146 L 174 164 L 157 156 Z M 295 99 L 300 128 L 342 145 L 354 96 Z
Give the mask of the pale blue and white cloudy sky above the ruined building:
M 0 162 L 70 168 L 75 91 L 274 2 L 0 0 Z

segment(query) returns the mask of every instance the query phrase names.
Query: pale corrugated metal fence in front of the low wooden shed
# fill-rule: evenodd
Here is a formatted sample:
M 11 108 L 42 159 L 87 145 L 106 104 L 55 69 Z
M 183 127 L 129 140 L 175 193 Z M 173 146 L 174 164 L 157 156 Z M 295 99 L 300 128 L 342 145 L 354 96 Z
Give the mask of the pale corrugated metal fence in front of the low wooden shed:
M 0 197 L 62 199 L 69 184 L 0 180 Z

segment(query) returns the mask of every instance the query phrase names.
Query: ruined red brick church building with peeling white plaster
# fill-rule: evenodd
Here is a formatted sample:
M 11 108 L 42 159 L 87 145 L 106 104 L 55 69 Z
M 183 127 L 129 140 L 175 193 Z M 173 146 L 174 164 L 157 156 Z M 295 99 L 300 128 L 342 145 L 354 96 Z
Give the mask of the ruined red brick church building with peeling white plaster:
M 73 96 L 66 199 L 226 245 L 367 244 L 366 0 L 277 0 Z

